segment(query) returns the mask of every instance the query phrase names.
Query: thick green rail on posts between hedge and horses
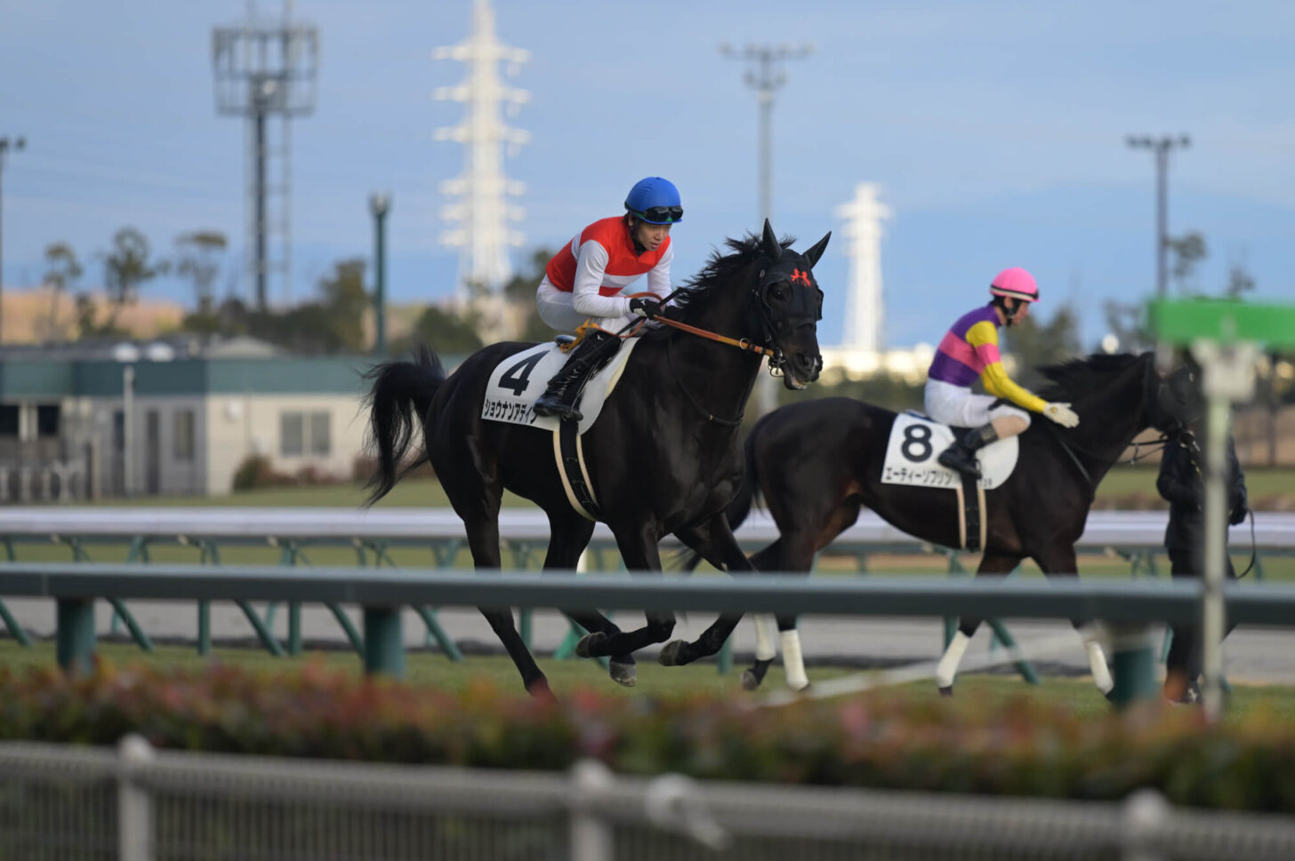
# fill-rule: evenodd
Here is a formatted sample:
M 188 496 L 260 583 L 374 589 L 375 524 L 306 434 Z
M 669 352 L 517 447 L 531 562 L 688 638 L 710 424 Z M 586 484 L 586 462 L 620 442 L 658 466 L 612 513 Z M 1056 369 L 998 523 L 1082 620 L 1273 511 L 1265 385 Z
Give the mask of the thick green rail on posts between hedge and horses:
M 975 580 L 929 578 L 580 577 L 452 570 L 373 570 L 275 566 L 212 569 L 203 565 L 0 565 L 0 596 L 57 601 L 58 662 L 91 666 L 95 600 L 298 601 L 363 608 L 361 652 L 369 672 L 404 674 L 404 606 L 521 606 L 567 610 L 697 610 L 857 617 L 1015 617 L 1099 621 L 1112 632 L 1112 698 L 1155 690 L 1150 623 L 1199 618 L 1199 582 Z M 1237 624 L 1295 627 L 1295 586 L 1230 584 L 1228 613 Z

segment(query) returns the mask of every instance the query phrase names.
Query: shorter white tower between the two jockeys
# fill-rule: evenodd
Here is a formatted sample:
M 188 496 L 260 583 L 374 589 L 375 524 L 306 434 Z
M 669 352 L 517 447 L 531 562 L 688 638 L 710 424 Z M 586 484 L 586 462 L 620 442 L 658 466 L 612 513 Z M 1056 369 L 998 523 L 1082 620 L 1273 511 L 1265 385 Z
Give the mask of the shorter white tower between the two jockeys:
M 846 331 L 843 346 L 879 353 L 882 350 L 882 220 L 891 217 L 890 207 L 877 199 L 878 186 L 860 182 L 855 199 L 837 207 L 837 217 L 846 220 L 850 244 L 850 293 L 846 296 Z

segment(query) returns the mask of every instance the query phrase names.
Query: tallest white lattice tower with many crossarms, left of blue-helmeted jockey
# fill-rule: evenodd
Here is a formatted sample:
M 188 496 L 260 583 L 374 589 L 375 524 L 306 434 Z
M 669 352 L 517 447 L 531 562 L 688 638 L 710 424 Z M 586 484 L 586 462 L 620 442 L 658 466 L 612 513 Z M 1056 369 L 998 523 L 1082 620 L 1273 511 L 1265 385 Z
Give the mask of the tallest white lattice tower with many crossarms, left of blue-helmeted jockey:
M 504 176 L 504 145 L 515 155 L 530 134 L 510 128 L 501 118 L 500 106 L 509 115 L 530 101 L 524 89 L 506 87 L 497 71 L 508 63 L 506 75 L 514 75 L 530 59 L 527 50 L 509 48 L 495 37 L 495 12 L 488 0 L 473 0 L 473 31 L 466 41 L 451 48 L 436 48 L 434 59 L 457 59 L 467 63 L 467 78 L 457 87 L 438 87 L 436 100 L 464 102 L 466 116 L 453 128 L 436 129 L 435 140 L 455 141 L 465 146 L 464 172 L 440 185 L 443 194 L 458 197 L 443 207 L 440 217 L 455 226 L 442 234 L 442 243 L 460 248 L 458 297 L 469 297 L 467 286 L 479 284 L 497 292 L 513 275 L 508 247 L 522 244 L 522 234 L 509 230 L 509 221 L 521 221 L 524 209 L 509 202 L 524 191 L 521 182 Z

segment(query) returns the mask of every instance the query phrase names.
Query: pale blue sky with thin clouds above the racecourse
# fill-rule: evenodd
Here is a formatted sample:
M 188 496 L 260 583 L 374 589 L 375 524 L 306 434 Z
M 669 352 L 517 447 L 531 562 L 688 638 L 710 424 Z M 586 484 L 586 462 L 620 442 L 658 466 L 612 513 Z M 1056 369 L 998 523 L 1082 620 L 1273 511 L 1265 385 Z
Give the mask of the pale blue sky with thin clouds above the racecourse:
M 277 12 L 277 4 L 259 4 Z M 500 36 L 532 52 L 508 160 L 527 185 L 528 247 L 557 246 L 619 211 L 628 186 L 680 186 L 676 278 L 726 235 L 756 229 L 756 103 L 721 41 L 811 41 L 774 107 L 774 226 L 825 230 L 856 182 L 895 211 L 883 243 L 886 337 L 938 340 L 992 275 L 1031 269 L 1045 303 L 1071 299 L 1092 343 L 1109 297 L 1154 283 L 1153 160 L 1127 133 L 1191 136 L 1171 167 L 1169 228 L 1199 230 L 1203 291 L 1241 262 L 1265 297 L 1295 296 L 1295 4 L 872 3 L 537 4 L 495 0 Z M 4 282 L 35 283 L 48 243 L 91 259 L 135 225 L 159 251 L 194 229 L 243 234 L 243 127 L 218 116 L 214 25 L 242 1 L 0 0 L 0 136 L 25 134 L 4 172 Z M 320 27 L 317 110 L 294 124 L 297 297 L 339 259 L 370 252 L 368 195 L 394 195 L 395 301 L 455 290 L 438 244 L 438 184 L 461 147 L 433 142 L 461 107 L 435 102 L 461 63 L 469 0 L 299 0 Z M 847 262 L 817 269 L 824 343 L 839 340 Z M 518 256 L 518 260 L 521 255 Z M 240 260 L 236 248 L 232 265 Z M 833 290 L 839 284 L 839 290 Z M 190 301 L 159 281 L 148 291 Z M 1044 308 L 1044 315 L 1048 309 Z

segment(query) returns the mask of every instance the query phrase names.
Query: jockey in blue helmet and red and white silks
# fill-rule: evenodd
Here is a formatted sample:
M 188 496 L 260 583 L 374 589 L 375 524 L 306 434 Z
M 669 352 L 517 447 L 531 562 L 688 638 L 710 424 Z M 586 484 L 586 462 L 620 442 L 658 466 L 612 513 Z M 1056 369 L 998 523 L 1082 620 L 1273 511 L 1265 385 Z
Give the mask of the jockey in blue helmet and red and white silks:
M 620 348 L 614 332 L 660 313 L 675 259 L 670 228 L 682 218 L 679 189 L 670 180 L 650 176 L 629 189 L 625 215 L 594 221 L 553 255 L 535 293 L 540 319 L 566 332 L 589 326 L 535 402 L 536 415 L 583 418 L 575 409 L 576 398 L 585 380 Z M 644 274 L 658 299 L 624 296 L 635 292 L 625 288 Z

